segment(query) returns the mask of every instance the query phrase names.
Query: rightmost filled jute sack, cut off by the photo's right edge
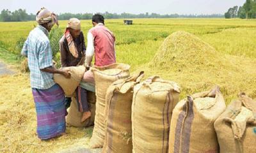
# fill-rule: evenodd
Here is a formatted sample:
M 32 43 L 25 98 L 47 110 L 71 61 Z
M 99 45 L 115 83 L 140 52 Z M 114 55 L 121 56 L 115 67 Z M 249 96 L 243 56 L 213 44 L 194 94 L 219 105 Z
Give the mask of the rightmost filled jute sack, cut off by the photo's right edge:
M 215 121 L 220 153 L 256 152 L 256 101 L 245 94 Z

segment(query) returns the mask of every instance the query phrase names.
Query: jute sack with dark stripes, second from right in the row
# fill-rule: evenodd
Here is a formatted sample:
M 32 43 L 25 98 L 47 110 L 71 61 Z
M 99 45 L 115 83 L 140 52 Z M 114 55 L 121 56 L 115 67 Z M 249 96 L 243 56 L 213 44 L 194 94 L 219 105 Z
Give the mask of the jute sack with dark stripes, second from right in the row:
M 225 108 L 219 87 L 180 101 L 172 114 L 169 152 L 218 152 L 214 121 Z

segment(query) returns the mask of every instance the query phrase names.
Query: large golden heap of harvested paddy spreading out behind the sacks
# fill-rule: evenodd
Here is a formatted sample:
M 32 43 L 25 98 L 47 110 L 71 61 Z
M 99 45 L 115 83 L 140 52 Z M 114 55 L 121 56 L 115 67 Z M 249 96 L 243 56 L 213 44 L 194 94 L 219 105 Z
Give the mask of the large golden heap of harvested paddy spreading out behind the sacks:
M 154 59 L 136 71 L 175 81 L 182 98 L 219 85 L 225 99 L 244 91 L 256 98 L 255 59 L 225 55 L 195 35 L 179 31 L 166 38 Z

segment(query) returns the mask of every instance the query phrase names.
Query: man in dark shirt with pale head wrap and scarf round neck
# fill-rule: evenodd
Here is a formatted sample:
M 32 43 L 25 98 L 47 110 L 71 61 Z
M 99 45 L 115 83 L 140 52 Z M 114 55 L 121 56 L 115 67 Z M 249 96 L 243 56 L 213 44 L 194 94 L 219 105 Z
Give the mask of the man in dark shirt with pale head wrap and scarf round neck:
M 83 65 L 85 59 L 84 34 L 81 31 L 81 23 L 77 18 L 70 18 L 68 25 L 60 40 L 61 66 Z M 76 99 L 79 112 L 83 113 L 81 122 L 91 116 L 87 102 L 87 91 L 82 87 L 76 89 Z M 66 98 L 66 107 L 70 105 L 71 99 Z

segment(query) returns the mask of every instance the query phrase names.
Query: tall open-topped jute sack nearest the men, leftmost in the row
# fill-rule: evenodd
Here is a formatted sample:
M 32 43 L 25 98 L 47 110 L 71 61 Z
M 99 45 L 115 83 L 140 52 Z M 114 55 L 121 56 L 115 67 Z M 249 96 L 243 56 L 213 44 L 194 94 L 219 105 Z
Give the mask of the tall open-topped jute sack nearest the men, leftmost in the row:
M 120 78 L 130 76 L 130 66 L 127 64 L 111 64 L 109 66 L 93 66 L 93 77 L 95 80 L 96 92 L 96 114 L 92 138 L 90 139 L 91 148 L 103 147 L 106 130 L 105 99 L 106 92 L 113 82 Z

